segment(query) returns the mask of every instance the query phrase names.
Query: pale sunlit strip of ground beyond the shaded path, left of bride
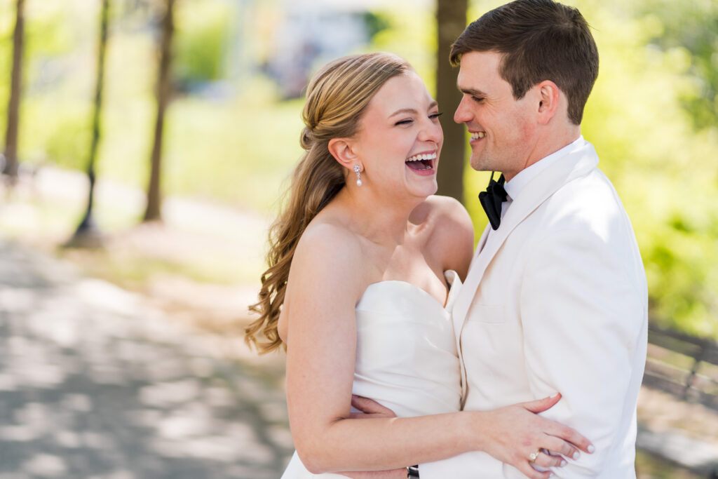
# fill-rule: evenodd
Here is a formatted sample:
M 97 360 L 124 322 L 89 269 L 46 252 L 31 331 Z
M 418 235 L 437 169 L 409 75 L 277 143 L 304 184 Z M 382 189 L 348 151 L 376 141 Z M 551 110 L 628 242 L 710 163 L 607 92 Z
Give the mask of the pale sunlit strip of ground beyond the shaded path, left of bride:
M 53 251 L 90 276 L 130 289 L 168 276 L 212 284 L 258 282 L 264 266 L 263 216 L 172 197 L 165 202 L 164 223 L 140 225 L 141 191 L 108 180 L 98 183 L 93 209 L 105 247 L 59 248 L 84 214 L 86 187 L 82 175 L 50 167 L 34 180 L 25 178 L 4 192 L 1 236 Z

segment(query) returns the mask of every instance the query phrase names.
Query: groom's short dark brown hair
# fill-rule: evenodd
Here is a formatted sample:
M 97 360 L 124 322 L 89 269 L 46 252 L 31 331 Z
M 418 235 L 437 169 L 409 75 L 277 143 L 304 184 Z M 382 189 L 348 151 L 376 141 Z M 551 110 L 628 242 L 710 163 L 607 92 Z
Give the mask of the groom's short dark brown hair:
M 503 54 L 501 78 L 517 100 L 551 80 L 569 101 L 569 119 L 581 124 L 584 106 L 598 76 L 598 50 L 578 9 L 553 0 L 515 0 L 472 22 L 454 45 L 456 66 L 468 52 Z

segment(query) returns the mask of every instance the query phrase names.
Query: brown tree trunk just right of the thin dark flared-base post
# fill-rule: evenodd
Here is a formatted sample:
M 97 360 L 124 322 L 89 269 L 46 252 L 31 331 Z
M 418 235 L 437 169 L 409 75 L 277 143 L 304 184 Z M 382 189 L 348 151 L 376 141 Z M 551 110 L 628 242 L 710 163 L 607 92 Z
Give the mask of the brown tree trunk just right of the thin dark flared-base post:
M 143 221 L 162 220 L 162 196 L 160 179 L 162 172 L 162 134 L 164 132 L 164 113 L 167 111 L 172 95 L 172 79 L 169 66 L 172 61 L 172 35 L 174 34 L 174 1 L 167 0 L 162 17 L 162 35 L 159 45 L 159 73 L 157 75 L 157 121 L 154 124 L 154 143 L 151 153 L 151 172 L 147 187 L 147 208 Z

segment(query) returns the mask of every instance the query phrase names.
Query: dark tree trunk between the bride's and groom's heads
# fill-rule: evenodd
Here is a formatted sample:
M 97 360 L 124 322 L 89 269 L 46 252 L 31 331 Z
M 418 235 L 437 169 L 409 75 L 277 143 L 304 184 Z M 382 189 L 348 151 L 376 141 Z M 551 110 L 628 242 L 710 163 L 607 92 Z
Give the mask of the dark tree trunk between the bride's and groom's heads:
M 439 195 L 454 197 L 462 203 L 467 140 L 464 125 L 454 123 L 454 111 L 461 100 L 461 93 L 456 88 L 458 68 L 449 65 L 449 52 L 454 40 L 466 28 L 467 8 L 468 0 L 437 0 L 437 101 L 439 108 L 446 112 L 442 118 L 444 147 L 437 180 Z

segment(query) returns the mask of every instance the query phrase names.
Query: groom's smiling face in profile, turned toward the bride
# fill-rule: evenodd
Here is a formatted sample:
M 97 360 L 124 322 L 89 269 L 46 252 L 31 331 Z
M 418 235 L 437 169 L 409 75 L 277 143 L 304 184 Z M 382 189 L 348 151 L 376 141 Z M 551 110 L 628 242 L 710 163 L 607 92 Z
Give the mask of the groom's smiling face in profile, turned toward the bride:
M 469 52 L 461 57 L 457 86 L 463 93 L 454 121 L 471 134 L 471 167 L 503 172 L 510 180 L 531 155 L 535 121 L 528 95 L 516 100 L 499 75 L 502 55 Z

